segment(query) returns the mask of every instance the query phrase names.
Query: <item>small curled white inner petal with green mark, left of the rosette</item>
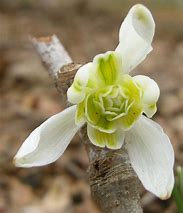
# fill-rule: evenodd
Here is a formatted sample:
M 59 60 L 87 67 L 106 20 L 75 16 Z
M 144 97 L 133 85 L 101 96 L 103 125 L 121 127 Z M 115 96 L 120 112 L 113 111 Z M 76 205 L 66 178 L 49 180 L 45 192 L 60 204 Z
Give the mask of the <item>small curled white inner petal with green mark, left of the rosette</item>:
M 67 90 L 68 101 L 72 104 L 80 103 L 85 97 L 85 87 L 88 83 L 90 71 L 92 69 L 92 63 L 83 65 L 77 71 L 73 84 Z

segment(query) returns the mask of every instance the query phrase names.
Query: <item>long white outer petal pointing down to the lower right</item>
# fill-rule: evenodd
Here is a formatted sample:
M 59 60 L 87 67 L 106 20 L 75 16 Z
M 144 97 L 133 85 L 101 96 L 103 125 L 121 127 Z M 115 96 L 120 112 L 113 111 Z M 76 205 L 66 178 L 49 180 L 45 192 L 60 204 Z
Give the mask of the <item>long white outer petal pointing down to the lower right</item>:
M 168 199 L 174 185 L 174 152 L 162 128 L 141 116 L 126 133 L 126 146 L 131 164 L 144 187 L 161 199 Z

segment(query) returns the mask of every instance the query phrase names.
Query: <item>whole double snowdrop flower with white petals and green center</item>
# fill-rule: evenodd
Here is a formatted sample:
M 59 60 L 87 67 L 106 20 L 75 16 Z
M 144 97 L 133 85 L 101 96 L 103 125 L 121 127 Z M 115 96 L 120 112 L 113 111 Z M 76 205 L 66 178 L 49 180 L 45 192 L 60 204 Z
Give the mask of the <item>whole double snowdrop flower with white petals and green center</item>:
M 170 197 L 174 152 L 162 128 L 149 119 L 157 110 L 159 87 L 147 76 L 129 75 L 152 50 L 154 29 L 150 11 L 140 4 L 133 6 L 120 27 L 115 51 L 95 56 L 78 70 L 67 92 L 74 105 L 29 135 L 15 156 L 16 166 L 54 162 L 86 123 L 88 137 L 96 146 L 120 149 L 125 141 L 144 187 L 161 199 Z

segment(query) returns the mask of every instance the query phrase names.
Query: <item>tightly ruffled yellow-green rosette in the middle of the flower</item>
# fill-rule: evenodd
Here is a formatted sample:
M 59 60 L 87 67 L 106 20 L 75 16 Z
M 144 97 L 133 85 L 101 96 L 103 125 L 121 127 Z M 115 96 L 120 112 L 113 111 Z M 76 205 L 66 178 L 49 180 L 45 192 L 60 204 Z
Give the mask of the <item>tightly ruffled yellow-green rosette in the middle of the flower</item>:
M 98 88 L 85 98 L 87 122 L 103 132 L 129 129 L 142 113 L 141 92 L 130 76 L 120 84 Z

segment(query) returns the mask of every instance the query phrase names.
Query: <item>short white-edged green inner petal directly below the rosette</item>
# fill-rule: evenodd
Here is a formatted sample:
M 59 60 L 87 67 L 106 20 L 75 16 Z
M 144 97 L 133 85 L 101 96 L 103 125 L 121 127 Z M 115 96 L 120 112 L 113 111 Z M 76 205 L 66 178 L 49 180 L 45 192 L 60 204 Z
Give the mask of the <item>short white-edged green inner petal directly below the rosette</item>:
M 124 143 L 125 133 L 118 129 L 113 133 L 101 132 L 98 129 L 87 125 L 87 134 L 90 141 L 99 147 L 108 147 L 109 149 L 120 149 Z

